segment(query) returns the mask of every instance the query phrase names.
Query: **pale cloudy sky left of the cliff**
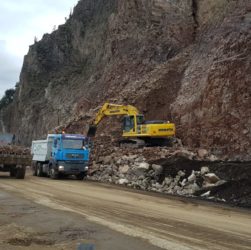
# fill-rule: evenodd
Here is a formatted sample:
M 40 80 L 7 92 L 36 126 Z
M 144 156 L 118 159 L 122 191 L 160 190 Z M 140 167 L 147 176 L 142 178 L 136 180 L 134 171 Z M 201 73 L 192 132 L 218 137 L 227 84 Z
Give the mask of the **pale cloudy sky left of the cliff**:
M 0 97 L 19 81 L 23 57 L 36 36 L 65 22 L 78 0 L 0 1 Z

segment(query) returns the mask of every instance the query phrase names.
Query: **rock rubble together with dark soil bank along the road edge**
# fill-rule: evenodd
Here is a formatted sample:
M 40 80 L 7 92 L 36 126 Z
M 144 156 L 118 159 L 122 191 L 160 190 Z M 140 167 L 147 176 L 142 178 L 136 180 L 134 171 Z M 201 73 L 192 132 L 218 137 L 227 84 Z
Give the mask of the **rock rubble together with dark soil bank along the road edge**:
M 218 159 L 179 145 L 140 149 L 96 141 L 88 179 L 171 195 L 251 207 L 251 162 Z

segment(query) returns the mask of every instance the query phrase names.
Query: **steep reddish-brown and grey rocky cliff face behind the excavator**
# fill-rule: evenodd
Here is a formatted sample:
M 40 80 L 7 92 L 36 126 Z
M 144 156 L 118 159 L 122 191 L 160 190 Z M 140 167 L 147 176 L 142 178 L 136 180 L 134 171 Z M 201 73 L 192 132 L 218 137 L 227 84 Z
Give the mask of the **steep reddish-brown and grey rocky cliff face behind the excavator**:
M 171 119 L 188 146 L 250 158 L 250 30 L 250 0 L 81 0 L 30 47 L 5 126 L 30 144 L 113 100 Z

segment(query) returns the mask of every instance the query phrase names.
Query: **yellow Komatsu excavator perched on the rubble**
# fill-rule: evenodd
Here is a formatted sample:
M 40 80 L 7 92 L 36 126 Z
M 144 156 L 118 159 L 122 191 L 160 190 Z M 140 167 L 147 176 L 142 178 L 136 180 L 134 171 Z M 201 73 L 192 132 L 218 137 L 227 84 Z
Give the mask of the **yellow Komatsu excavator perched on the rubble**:
M 105 116 L 123 117 L 122 143 L 142 144 L 147 146 L 162 146 L 170 144 L 175 136 L 175 124 L 169 121 L 145 121 L 138 109 L 131 105 L 105 103 L 89 126 L 88 137 L 94 137 L 97 126 Z

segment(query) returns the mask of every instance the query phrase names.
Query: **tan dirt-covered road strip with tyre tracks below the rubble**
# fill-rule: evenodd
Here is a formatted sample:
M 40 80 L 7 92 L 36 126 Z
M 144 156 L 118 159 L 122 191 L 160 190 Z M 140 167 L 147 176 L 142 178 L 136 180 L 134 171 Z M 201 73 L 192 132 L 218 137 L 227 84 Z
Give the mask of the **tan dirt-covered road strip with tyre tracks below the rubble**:
M 33 176 L 0 178 L 1 189 L 50 209 L 84 216 L 130 239 L 137 237 L 147 242 L 146 249 L 251 249 L 251 211 L 247 210 Z

